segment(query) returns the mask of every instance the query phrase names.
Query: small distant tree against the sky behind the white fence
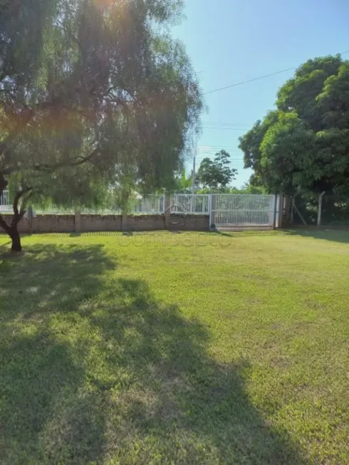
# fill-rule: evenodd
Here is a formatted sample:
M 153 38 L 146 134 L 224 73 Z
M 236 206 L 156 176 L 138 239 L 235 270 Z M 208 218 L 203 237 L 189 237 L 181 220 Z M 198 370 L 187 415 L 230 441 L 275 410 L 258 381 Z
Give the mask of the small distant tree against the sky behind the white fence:
M 214 160 L 204 158 L 197 172 L 197 181 L 203 188 L 224 190 L 235 179 L 237 170 L 231 168 L 230 155 L 218 152 Z

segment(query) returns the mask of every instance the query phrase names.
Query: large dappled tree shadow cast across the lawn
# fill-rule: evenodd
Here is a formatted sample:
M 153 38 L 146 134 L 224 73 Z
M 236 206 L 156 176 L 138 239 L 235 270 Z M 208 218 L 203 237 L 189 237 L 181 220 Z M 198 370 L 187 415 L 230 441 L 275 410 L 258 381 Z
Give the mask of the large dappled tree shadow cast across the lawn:
M 102 247 L 7 265 L 1 464 L 305 463 L 249 401 L 248 364 L 212 360 L 207 329 L 118 277 Z

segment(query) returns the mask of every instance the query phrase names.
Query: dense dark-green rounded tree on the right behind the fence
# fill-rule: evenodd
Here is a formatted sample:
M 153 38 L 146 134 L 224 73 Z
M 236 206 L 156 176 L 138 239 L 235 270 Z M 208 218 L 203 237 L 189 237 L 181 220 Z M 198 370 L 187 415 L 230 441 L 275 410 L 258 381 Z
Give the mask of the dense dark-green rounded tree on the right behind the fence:
M 251 181 L 270 191 L 349 192 L 349 61 L 315 58 L 240 139 Z

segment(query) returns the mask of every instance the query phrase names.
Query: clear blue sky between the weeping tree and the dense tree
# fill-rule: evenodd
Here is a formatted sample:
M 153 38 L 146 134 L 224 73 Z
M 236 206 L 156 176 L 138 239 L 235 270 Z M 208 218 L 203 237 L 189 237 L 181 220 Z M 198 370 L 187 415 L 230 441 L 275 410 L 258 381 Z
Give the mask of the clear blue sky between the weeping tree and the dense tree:
M 349 50 L 348 0 L 186 0 L 184 14 L 173 33 L 185 43 L 204 92 Z M 205 95 L 198 162 L 225 148 L 239 169 L 233 184 L 246 182 L 251 172 L 243 169 L 238 138 L 274 107 L 292 75 Z

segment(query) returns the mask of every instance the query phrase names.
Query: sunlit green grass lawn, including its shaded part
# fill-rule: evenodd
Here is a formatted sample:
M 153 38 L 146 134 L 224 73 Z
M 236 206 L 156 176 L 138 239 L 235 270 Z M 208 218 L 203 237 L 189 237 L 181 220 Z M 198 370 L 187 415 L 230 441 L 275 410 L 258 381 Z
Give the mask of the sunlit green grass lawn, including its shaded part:
M 0 464 L 349 463 L 349 232 L 0 236 Z

